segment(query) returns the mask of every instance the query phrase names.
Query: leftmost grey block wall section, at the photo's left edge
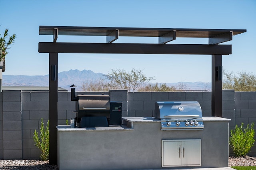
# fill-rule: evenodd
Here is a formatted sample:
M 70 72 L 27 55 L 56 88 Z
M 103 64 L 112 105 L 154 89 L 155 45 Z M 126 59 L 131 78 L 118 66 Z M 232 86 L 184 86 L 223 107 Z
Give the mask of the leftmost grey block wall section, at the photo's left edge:
M 2 93 L 2 130 L 0 156 L 3 159 L 22 159 L 21 90 Z

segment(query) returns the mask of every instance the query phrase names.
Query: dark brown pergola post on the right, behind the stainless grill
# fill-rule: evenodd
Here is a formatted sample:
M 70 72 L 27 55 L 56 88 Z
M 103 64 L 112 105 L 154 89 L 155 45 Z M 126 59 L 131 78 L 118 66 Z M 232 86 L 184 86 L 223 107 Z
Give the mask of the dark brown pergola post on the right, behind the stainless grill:
M 212 116 L 222 117 L 222 55 L 212 55 Z

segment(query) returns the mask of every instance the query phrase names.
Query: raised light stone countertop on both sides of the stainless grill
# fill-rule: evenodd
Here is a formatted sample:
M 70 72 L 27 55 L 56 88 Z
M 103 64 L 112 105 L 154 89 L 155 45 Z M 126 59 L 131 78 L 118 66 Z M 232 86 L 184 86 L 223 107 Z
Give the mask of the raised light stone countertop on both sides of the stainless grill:
M 160 119 L 155 119 L 154 117 L 123 117 L 124 121 L 128 122 L 161 122 Z M 226 119 L 222 117 L 203 117 L 203 121 L 205 122 L 227 122 L 231 121 L 231 119 Z

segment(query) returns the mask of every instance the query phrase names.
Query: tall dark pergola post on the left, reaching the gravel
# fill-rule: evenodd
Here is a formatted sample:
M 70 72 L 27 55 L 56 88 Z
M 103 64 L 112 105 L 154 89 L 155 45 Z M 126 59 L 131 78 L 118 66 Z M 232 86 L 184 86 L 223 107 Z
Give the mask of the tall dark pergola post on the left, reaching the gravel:
M 49 164 L 57 165 L 58 53 L 49 53 Z

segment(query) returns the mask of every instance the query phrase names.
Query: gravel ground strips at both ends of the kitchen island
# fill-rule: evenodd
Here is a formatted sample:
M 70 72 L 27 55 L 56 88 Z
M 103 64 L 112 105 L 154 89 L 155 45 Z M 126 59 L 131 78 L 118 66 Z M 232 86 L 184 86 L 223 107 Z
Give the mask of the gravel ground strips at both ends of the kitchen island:
M 58 170 L 58 166 L 49 165 L 49 161 L 42 160 L 0 160 L 0 170 Z M 228 166 L 256 166 L 256 158 L 242 156 L 229 157 Z

